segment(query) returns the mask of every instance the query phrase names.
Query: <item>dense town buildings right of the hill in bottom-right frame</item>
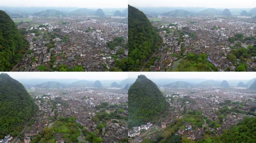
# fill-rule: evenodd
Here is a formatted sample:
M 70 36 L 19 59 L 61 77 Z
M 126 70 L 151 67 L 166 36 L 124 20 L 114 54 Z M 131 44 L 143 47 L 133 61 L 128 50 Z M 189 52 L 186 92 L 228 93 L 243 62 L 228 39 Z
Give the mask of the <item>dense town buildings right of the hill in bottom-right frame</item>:
M 208 127 L 207 123 L 202 125 L 202 128 L 192 128 L 191 124 L 185 123 L 185 130 L 180 129 L 176 132 L 180 136 L 186 136 L 191 140 L 203 139 L 202 134 L 205 133 L 205 126 L 207 130 L 210 130 L 210 136 L 220 134 L 222 130 L 237 124 L 244 116 L 248 116 L 242 113 L 230 112 L 225 116 L 222 121 L 219 121 L 219 110 L 225 105 L 221 105 L 221 102 L 231 100 L 232 102 L 244 102 L 243 107 L 239 110 L 243 112 L 249 111 L 250 108 L 256 106 L 252 100 L 255 95 L 250 92 L 246 92 L 245 89 L 216 89 L 216 88 L 192 88 L 192 89 L 170 89 L 162 88 L 167 94 L 167 102 L 170 104 L 168 109 L 168 115 L 161 121 L 161 127 L 166 128 L 168 124 L 175 122 L 175 118 L 180 118 L 184 113 L 191 111 L 201 111 L 204 117 L 207 117 L 210 121 L 215 121 L 221 126 L 217 128 Z M 171 94 L 172 93 L 172 94 Z M 169 98 L 171 97 L 171 98 Z M 174 99 L 175 98 L 175 99 Z M 179 98 L 180 100 L 176 100 Z M 184 99 L 184 100 L 183 100 Z M 184 102 L 186 101 L 186 102 Z M 228 105 L 228 108 L 231 109 Z M 215 134 L 213 134 L 215 133 Z

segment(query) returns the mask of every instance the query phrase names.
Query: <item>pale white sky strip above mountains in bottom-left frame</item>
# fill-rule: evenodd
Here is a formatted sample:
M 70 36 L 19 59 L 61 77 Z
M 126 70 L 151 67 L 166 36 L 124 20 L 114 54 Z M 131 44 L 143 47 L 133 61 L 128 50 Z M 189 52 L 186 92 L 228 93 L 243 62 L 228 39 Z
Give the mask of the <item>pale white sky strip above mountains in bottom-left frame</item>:
M 13 79 L 123 80 L 127 72 L 3 72 Z

